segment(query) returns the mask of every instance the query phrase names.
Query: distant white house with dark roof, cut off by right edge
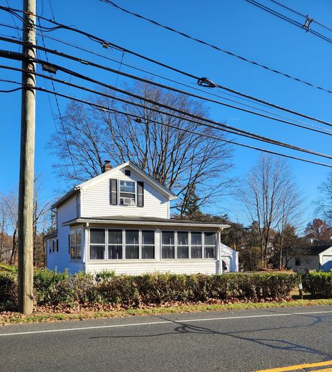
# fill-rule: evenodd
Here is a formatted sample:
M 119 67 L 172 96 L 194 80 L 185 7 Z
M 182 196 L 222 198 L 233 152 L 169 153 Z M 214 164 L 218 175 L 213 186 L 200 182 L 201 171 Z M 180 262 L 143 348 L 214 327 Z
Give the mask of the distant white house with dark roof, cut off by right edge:
M 330 271 L 332 269 L 332 246 L 308 246 L 299 249 L 297 255 L 288 261 L 288 267 L 297 271 L 298 267 L 305 267 L 316 271 Z

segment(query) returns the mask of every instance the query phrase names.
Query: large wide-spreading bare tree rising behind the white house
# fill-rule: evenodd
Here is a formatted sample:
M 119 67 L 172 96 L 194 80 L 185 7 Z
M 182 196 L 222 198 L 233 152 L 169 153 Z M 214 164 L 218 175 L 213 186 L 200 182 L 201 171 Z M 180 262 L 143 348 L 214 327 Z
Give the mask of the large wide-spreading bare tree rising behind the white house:
M 127 89 L 183 112 L 201 117 L 208 115 L 203 104 L 185 95 L 142 83 Z M 100 174 L 105 158 L 113 164 L 130 160 L 178 195 L 176 207 L 180 214 L 193 189 L 199 196 L 199 206 L 211 202 L 212 197 L 229 193 L 230 179 L 226 172 L 232 166 L 230 147 L 218 139 L 192 133 L 222 138 L 220 131 L 194 124 L 186 114 L 177 114 L 181 117 L 178 119 L 151 110 L 171 113 L 157 105 L 126 99 L 142 107 L 95 97 L 91 101 L 126 114 L 86 108 L 77 102 L 68 105 L 64 126 L 50 142 L 61 160 L 57 169 L 62 177 L 82 182 Z

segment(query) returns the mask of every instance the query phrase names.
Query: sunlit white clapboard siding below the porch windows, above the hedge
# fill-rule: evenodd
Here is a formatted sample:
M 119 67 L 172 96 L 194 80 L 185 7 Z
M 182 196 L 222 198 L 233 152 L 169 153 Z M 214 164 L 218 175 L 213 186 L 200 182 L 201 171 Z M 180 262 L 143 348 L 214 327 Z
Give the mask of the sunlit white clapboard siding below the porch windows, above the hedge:
M 98 273 L 103 270 L 115 271 L 116 274 L 140 275 L 145 273 L 175 273 L 175 274 L 216 274 L 216 260 L 162 260 L 151 262 L 89 262 L 86 271 Z

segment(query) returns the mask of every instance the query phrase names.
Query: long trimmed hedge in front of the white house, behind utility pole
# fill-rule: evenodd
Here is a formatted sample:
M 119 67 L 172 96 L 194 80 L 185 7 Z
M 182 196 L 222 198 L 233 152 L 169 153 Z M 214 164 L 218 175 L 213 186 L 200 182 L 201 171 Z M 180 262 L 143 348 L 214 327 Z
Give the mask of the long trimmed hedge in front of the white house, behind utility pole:
M 223 274 L 223 275 L 98 275 L 56 273 L 37 270 L 34 298 L 37 306 L 73 303 L 142 304 L 169 302 L 207 302 L 209 300 L 282 300 L 290 297 L 297 275 Z M 17 273 L 0 273 L 0 311 L 17 307 Z

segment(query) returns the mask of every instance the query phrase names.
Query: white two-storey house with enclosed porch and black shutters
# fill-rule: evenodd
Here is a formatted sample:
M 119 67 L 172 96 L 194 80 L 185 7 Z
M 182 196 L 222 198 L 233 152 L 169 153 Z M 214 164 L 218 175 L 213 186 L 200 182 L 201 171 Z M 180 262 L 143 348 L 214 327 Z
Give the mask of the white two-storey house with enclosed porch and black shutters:
M 53 205 L 46 266 L 70 273 L 222 273 L 226 224 L 170 219 L 176 195 L 129 161 L 75 186 Z

